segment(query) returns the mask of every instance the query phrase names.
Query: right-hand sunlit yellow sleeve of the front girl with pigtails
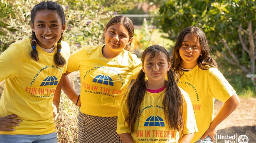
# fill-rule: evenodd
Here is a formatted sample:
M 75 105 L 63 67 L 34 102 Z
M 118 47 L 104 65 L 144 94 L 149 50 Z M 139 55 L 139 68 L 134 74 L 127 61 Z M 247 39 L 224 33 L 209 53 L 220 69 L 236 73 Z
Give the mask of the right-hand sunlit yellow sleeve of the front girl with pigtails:
M 195 120 L 195 114 L 194 114 L 194 110 L 193 110 L 193 106 L 190 101 L 190 98 L 188 94 L 182 89 L 181 89 L 181 93 L 184 97 L 183 111 L 182 111 L 184 127 L 182 130 L 182 134 L 191 134 L 194 132 L 198 132 L 197 123 Z

